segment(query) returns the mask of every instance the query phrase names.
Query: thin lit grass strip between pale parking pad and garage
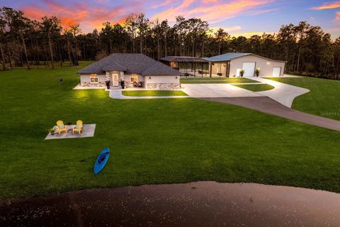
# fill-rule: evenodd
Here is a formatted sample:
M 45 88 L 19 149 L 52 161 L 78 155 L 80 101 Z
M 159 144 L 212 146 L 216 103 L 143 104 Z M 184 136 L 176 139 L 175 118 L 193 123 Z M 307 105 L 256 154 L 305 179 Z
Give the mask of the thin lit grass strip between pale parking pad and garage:
M 256 83 L 257 81 L 248 78 L 234 77 L 204 77 L 204 78 L 181 78 L 182 84 L 237 84 L 237 83 Z

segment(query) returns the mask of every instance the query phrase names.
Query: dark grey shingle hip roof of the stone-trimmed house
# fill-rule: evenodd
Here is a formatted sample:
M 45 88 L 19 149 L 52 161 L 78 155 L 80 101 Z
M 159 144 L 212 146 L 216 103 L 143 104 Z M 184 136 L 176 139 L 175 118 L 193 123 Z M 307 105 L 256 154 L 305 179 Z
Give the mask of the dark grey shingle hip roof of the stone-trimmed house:
M 143 54 L 114 53 L 79 70 L 79 74 L 105 74 L 105 71 L 124 71 L 126 74 L 168 74 L 181 72 Z

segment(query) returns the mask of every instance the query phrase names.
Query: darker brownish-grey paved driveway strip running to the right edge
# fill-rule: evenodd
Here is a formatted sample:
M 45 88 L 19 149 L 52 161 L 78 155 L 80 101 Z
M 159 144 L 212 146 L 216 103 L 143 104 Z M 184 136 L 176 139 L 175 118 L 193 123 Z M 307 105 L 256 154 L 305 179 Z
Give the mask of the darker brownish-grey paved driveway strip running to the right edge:
M 229 98 L 202 98 L 209 101 L 224 102 L 227 104 L 234 104 L 243 106 L 256 111 L 261 111 L 266 114 L 273 114 L 293 121 L 307 123 L 313 126 L 328 128 L 334 131 L 340 131 L 340 121 L 324 118 L 322 116 L 315 116 L 304 112 L 290 109 L 288 106 L 280 104 L 269 97 L 229 97 Z

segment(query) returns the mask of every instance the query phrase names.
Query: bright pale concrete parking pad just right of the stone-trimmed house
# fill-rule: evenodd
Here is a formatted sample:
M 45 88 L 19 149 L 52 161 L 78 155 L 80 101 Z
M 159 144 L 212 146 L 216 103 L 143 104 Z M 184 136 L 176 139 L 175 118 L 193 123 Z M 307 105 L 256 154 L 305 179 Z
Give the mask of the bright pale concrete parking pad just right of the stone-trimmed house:
M 183 92 L 194 98 L 265 96 L 232 84 L 182 84 L 181 86 Z

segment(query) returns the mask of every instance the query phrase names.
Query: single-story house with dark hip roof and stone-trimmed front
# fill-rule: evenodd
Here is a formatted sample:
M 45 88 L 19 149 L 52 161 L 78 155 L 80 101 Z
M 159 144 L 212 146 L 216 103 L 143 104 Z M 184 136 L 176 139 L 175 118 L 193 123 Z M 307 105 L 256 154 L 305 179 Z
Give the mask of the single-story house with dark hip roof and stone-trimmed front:
M 81 87 L 105 87 L 106 81 L 118 87 L 124 79 L 125 87 L 146 89 L 180 89 L 180 72 L 142 54 L 114 53 L 77 72 Z

